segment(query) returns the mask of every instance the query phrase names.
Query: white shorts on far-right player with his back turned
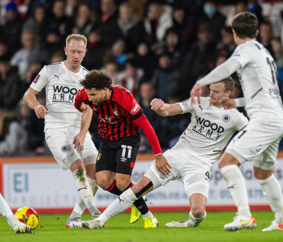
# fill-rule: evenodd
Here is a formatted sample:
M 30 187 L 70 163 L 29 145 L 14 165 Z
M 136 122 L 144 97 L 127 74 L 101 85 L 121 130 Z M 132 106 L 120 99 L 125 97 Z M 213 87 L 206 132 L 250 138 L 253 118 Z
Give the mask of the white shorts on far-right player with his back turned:
M 272 125 L 271 125 L 272 124 Z M 253 161 L 254 166 L 263 170 L 272 170 L 277 163 L 279 141 L 283 135 L 281 120 L 260 122 L 252 120 L 228 144 L 225 153 L 235 157 L 243 164 Z

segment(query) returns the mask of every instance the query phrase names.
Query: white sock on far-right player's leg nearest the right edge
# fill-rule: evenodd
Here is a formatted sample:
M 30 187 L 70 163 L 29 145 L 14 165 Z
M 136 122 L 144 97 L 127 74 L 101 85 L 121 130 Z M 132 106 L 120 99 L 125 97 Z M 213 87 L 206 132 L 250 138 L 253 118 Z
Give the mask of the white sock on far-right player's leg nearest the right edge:
M 276 222 L 283 224 L 283 195 L 279 181 L 273 174 L 269 178 L 257 181 L 264 191 L 271 210 L 275 213 Z

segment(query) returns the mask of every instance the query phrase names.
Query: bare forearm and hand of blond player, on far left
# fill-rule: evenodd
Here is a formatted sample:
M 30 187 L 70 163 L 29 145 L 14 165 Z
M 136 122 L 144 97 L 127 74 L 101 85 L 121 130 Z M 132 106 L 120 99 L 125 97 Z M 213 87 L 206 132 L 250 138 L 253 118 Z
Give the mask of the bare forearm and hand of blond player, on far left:
M 34 109 L 34 112 L 38 118 L 44 118 L 45 115 L 48 114 L 48 112 L 43 105 L 37 102 L 36 95 L 38 93 L 38 91 L 29 87 L 29 89 L 27 89 L 26 93 L 24 94 L 24 101 L 30 108 Z

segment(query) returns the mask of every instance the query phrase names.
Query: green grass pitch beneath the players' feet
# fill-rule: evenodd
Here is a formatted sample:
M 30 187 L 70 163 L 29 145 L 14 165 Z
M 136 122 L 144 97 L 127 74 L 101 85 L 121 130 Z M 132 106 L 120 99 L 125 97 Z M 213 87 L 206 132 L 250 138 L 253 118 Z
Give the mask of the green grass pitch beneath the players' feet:
M 173 220 L 183 221 L 189 213 L 154 213 L 159 221 L 158 228 L 144 229 L 142 218 L 134 224 L 129 223 L 130 214 L 122 213 L 111 218 L 105 228 L 86 230 L 83 228 L 66 229 L 65 222 L 69 214 L 39 215 L 40 223 L 33 234 L 14 234 L 0 217 L 0 241 L 2 242 L 49 242 L 49 241 L 92 241 L 92 242 L 177 242 L 177 241 L 225 241 L 225 242 L 283 242 L 283 231 L 261 232 L 274 219 L 272 212 L 253 212 L 257 227 L 253 230 L 243 229 L 238 232 L 227 232 L 223 229 L 225 223 L 232 221 L 233 212 L 208 212 L 205 221 L 197 228 L 164 228 L 164 224 Z M 84 214 L 82 219 L 91 219 Z

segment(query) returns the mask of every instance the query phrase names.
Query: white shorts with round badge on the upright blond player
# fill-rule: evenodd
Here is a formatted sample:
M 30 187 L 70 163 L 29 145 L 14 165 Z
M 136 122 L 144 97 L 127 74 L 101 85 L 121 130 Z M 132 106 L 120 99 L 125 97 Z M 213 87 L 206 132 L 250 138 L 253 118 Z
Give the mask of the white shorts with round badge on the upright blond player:
M 45 130 L 47 145 L 63 170 L 70 169 L 78 159 L 82 159 L 85 166 L 96 163 L 98 152 L 89 132 L 85 135 L 83 150 L 74 149 L 73 139 L 79 132 L 80 128 L 73 125 Z

